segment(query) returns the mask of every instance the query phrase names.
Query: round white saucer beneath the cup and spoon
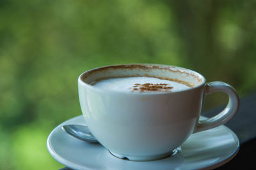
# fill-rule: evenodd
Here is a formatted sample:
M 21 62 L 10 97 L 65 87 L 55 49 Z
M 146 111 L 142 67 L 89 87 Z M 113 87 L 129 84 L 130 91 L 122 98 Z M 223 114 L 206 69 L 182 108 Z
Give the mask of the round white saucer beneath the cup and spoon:
M 172 157 L 136 162 L 118 159 L 99 143 L 88 143 L 70 136 L 61 129 L 66 124 L 86 123 L 83 116 L 79 116 L 58 125 L 49 134 L 47 148 L 54 159 L 71 169 L 213 169 L 231 160 L 239 150 L 236 134 L 221 125 L 191 134 Z

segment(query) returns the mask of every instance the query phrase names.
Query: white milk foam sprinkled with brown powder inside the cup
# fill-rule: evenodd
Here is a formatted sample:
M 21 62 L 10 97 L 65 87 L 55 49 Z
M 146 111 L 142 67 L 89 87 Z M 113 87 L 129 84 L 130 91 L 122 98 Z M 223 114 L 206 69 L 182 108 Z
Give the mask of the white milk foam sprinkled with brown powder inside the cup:
M 138 92 L 141 92 L 140 87 L 143 87 L 142 85 L 145 85 L 145 84 L 148 85 L 148 83 L 152 86 L 154 85 L 159 86 L 164 84 L 163 87 L 167 87 L 166 89 L 168 89 L 168 90 L 160 89 L 158 90 L 158 92 L 166 92 L 166 91 L 177 92 L 180 90 L 186 90 L 191 88 L 182 83 L 178 83 L 176 81 L 163 80 L 159 78 L 144 77 L 144 76 L 109 78 L 109 79 L 93 82 L 92 85 L 94 87 L 99 87 L 100 89 L 113 90 L 117 92 L 137 92 L 138 93 Z M 172 87 L 172 89 L 168 87 Z M 156 91 L 153 90 L 150 92 L 156 92 Z

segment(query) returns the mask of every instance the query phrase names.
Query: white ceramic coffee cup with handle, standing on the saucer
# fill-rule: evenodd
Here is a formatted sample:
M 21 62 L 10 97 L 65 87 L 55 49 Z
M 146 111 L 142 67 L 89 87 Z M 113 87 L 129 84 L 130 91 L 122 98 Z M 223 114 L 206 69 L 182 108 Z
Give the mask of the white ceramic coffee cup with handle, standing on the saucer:
M 102 78 L 154 76 L 195 84 L 179 92 L 132 93 L 103 90 L 90 85 Z M 129 160 L 156 160 L 178 148 L 190 134 L 225 124 L 239 107 L 236 90 L 227 83 L 206 83 L 195 71 L 157 64 L 106 66 L 78 78 L 79 101 L 86 123 L 109 152 Z M 199 120 L 204 97 L 225 92 L 227 107 L 212 118 Z

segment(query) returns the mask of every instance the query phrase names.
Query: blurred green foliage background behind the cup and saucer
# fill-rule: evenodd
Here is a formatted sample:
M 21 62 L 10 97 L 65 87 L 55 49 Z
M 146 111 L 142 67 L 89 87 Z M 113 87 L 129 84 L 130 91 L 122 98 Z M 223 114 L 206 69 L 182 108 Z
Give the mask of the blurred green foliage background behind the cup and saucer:
M 156 63 L 256 90 L 256 1 L 0 2 L 0 169 L 60 169 L 56 125 L 81 115 L 77 77 L 93 67 Z M 207 97 L 204 110 L 227 103 Z

